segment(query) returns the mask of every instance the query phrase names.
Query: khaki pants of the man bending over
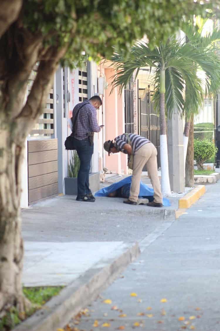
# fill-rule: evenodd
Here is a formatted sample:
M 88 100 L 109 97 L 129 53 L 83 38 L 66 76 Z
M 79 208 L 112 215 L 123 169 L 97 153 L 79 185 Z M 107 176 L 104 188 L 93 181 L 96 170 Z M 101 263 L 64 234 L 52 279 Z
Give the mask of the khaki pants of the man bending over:
M 133 174 L 129 200 L 136 202 L 140 191 L 141 172 L 147 165 L 148 177 L 154 189 L 154 201 L 162 203 L 161 186 L 157 169 L 157 150 L 152 143 L 143 145 L 133 157 Z

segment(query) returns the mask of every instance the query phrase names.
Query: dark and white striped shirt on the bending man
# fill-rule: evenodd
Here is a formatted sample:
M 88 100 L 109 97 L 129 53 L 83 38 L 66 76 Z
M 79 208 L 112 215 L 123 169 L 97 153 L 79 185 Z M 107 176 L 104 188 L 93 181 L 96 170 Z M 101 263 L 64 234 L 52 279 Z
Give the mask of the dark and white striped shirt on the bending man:
M 131 143 L 133 154 L 135 152 L 137 152 L 143 145 L 150 143 L 150 140 L 148 140 L 147 138 L 141 137 L 138 134 L 129 133 L 128 135 L 130 138 L 130 143 Z M 120 152 L 127 154 L 127 152 L 123 148 L 125 146 L 125 144 L 128 144 L 128 139 L 127 139 L 125 133 L 116 137 L 114 139 L 114 144 L 115 144 L 115 147 Z

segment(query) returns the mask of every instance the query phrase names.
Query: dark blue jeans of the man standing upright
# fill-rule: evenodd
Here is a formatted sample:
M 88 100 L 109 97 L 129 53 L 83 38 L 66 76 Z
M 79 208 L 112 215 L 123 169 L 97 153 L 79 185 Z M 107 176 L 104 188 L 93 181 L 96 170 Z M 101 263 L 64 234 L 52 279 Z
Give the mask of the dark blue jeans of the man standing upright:
M 75 139 L 76 151 L 80 159 L 80 168 L 77 176 L 77 196 L 90 194 L 89 188 L 89 173 L 90 163 L 93 154 L 93 145 L 90 146 L 89 138 L 83 140 Z

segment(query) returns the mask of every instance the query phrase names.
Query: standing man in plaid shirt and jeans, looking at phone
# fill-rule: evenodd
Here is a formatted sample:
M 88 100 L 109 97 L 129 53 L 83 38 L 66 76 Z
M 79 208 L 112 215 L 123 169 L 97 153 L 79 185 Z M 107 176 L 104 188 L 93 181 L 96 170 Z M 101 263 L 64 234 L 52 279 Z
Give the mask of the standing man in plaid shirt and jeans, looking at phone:
M 98 125 L 96 113 L 96 110 L 99 109 L 101 105 L 101 98 L 95 95 L 89 100 L 78 103 L 73 109 L 72 119 L 75 125 L 72 128 L 72 134 L 80 159 L 80 168 L 77 176 L 77 201 L 95 201 L 89 188 L 89 171 L 93 154 L 93 143 L 90 143 L 88 132 L 99 132 L 103 127 Z M 75 121 L 78 111 L 79 113 Z

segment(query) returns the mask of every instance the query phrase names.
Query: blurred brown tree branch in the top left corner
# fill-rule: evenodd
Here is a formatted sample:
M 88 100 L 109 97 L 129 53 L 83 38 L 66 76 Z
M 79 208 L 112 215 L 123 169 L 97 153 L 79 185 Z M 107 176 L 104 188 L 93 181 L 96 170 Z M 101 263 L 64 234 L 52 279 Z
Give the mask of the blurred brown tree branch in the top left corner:
M 18 18 L 22 0 L 1 0 L 0 38 L 8 27 Z

